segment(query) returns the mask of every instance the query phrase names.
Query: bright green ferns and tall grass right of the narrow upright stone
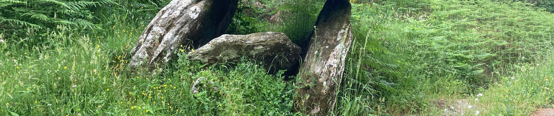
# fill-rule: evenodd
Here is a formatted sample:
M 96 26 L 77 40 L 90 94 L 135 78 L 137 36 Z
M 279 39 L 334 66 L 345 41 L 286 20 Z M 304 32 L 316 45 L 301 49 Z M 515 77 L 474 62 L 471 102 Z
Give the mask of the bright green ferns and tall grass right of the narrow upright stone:
M 476 95 L 554 48 L 554 15 L 526 3 L 351 2 L 340 115 L 443 115 L 437 100 Z

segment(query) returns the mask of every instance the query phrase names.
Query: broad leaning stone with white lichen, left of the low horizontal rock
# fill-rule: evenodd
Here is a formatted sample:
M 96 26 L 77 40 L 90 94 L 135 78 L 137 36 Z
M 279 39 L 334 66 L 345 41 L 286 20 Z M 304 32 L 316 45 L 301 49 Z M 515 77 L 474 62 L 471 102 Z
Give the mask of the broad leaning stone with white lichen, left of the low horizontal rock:
M 159 68 L 181 45 L 197 48 L 223 34 L 237 9 L 237 0 L 173 0 L 142 32 L 131 50 L 130 65 Z

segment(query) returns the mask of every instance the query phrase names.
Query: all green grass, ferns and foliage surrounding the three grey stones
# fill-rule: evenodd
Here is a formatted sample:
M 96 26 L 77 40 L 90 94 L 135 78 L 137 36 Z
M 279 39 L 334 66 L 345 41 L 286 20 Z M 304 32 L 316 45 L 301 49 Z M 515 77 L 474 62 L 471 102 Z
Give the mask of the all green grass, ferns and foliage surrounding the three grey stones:
M 168 2 L 0 0 L 0 115 L 301 115 L 295 78 L 248 59 L 202 65 L 180 53 L 161 75 L 129 74 L 130 49 Z M 351 1 L 355 40 L 333 114 L 443 115 L 437 101 L 458 100 L 473 106 L 464 115 L 552 107 L 554 14 L 538 2 Z M 323 3 L 242 1 L 227 33 L 300 43 Z

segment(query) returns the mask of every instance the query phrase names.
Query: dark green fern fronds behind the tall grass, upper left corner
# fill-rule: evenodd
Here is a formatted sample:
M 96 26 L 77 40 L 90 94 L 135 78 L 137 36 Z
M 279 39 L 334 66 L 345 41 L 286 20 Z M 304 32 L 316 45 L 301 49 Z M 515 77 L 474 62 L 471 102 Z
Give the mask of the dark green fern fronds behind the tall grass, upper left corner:
M 2 0 L 0 33 L 28 46 L 52 43 L 46 35 L 68 32 L 104 31 L 116 23 L 149 23 L 168 1 L 101 0 Z M 64 27 L 64 28 L 62 28 Z

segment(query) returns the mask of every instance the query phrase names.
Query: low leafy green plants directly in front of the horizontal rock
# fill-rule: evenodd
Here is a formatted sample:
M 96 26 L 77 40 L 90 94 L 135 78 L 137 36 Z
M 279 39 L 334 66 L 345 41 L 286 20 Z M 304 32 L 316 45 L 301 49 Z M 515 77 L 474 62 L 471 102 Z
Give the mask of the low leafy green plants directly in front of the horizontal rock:
M 268 75 L 258 63 L 245 59 L 233 67 L 223 64 L 192 71 L 204 66 L 187 60 L 185 54 L 180 55 L 179 70 L 174 77 L 186 76 L 182 83 L 185 86 L 199 80 L 197 91 L 186 93 L 191 95 L 191 100 L 183 101 L 194 103 L 188 106 L 190 114 L 295 115 L 294 87 L 280 76 L 284 71 Z

